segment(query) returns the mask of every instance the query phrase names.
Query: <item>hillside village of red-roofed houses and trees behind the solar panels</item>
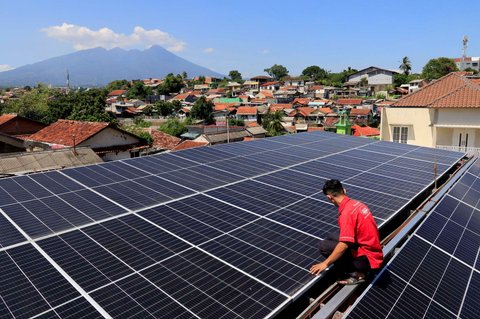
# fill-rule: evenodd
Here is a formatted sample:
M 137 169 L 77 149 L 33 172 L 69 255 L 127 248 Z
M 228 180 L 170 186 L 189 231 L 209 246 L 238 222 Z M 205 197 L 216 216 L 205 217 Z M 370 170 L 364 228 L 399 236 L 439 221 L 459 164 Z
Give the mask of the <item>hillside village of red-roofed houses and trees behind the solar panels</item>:
M 318 67 L 306 70 L 312 68 Z M 164 79 L 118 80 L 99 91 L 105 92 L 104 99 L 99 100 L 103 102 L 95 112 L 105 115 L 95 122 L 82 117 L 53 117 L 45 123 L 22 114 L 22 106 L 18 113 L 2 115 L 0 149 L 17 154 L 89 148 L 100 160 L 111 161 L 282 134 L 329 131 L 476 152 L 480 147 L 480 130 L 474 124 L 480 122 L 480 80 L 474 73 L 452 72 L 428 81 L 418 75 L 402 78 L 400 70 L 349 68 L 343 84 L 336 86 L 314 76 L 285 73 L 280 77 L 273 72 L 244 80 L 238 71 L 223 79 L 170 74 Z M 398 76 L 409 81 L 400 84 Z M 24 103 L 22 97 L 31 90 L 4 90 L 0 106 Z M 57 97 L 74 91 L 69 87 L 55 90 Z M 437 106 L 445 96 L 452 99 L 452 94 L 453 102 Z M 52 97 L 48 103 L 51 101 Z M 66 102 L 60 99 L 58 103 Z M 410 111 L 413 113 L 407 115 Z M 440 119 L 432 130 L 434 118 Z

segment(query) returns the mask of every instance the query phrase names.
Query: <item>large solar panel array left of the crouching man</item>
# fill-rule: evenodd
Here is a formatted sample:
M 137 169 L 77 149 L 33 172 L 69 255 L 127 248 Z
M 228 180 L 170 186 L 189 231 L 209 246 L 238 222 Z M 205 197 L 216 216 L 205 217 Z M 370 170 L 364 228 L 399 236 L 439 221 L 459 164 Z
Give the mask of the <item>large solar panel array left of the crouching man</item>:
M 0 315 L 272 317 L 318 278 L 326 179 L 380 225 L 462 154 L 330 133 L 0 180 Z

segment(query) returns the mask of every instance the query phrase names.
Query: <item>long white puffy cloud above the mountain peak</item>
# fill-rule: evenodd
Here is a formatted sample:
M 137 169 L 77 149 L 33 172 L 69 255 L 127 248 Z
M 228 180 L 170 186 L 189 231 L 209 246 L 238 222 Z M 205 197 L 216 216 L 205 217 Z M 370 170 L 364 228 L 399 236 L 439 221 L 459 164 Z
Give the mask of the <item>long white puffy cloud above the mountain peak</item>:
M 91 30 L 74 24 L 63 23 L 62 25 L 44 28 L 41 31 L 47 36 L 73 44 L 75 50 L 85 50 L 96 47 L 111 49 L 150 47 L 158 44 L 169 51 L 179 52 L 185 49 L 186 43 L 175 39 L 170 34 L 159 29 L 145 30 L 142 27 L 135 27 L 131 34 L 116 33 L 109 28 Z

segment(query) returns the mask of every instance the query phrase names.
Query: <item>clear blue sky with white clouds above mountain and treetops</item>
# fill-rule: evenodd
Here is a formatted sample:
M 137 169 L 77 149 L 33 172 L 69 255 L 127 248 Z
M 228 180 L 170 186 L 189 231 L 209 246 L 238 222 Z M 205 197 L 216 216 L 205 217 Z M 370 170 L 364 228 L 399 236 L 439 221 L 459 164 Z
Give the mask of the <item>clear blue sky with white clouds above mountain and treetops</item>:
M 431 58 L 480 56 L 480 1 L 0 0 L 0 71 L 93 47 L 161 45 L 244 78 L 284 65 L 414 72 Z

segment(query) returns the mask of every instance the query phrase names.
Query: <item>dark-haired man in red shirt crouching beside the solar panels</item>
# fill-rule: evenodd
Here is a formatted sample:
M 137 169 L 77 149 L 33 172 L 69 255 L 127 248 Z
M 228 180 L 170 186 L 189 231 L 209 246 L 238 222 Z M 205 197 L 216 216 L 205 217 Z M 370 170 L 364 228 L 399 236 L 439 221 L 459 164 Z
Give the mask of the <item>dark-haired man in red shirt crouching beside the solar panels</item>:
M 338 207 L 340 233 L 329 234 L 320 242 L 320 252 L 326 259 L 313 265 L 310 272 L 318 275 L 338 261 L 337 264 L 349 272 L 349 277 L 338 283 L 364 282 L 366 274 L 379 269 L 383 262 L 380 236 L 372 213 L 365 204 L 349 198 L 339 180 L 326 181 L 323 193 Z

